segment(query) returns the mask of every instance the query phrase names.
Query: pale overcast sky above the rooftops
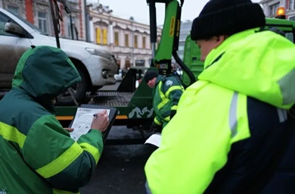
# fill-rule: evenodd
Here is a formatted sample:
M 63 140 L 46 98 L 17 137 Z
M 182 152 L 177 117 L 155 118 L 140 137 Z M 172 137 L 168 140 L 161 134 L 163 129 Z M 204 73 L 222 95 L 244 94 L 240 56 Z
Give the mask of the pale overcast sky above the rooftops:
M 209 0 L 184 0 L 182 7 L 181 20 L 193 20 L 198 16 L 203 6 Z M 260 0 L 252 0 L 259 2 Z M 98 0 L 87 0 L 87 2 L 95 2 Z M 109 5 L 113 10 L 114 16 L 129 19 L 133 16 L 138 22 L 149 23 L 149 6 L 146 0 L 99 0 L 103 5 Z M 157 8 L 157 25 L 163 24 L 165 16 L 165 4 L 156 3 Z

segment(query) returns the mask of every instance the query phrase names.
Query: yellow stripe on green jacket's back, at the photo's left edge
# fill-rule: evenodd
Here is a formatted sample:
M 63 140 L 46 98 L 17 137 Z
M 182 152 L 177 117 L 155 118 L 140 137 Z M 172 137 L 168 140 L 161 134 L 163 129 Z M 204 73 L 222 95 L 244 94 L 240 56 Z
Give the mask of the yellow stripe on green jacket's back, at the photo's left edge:
M 19 132 L 19 130 L 13 126 L 7 125 L 6 123 L 0 122 L 0 136 L 7 141 L 13 141 L 17 143 L 20 148 L 23 147 L 26 136 Z

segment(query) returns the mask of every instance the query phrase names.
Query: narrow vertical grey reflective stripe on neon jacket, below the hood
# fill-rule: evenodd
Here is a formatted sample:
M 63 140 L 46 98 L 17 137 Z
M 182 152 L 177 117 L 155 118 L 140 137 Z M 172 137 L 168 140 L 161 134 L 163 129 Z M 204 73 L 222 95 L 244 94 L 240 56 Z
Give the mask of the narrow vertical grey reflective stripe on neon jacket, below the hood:
M 232 135 L 231 135 L 232 138 L 236 136 L 236 133 L 237 133 L 237 119 L 236 119 L 237 96 L 238 96 L 238 93 L 234 92 L 234 95 L 231 101 L 231 107 L 230 107 L 229 121 L 230 121 L 230 128 L 232 132 Z

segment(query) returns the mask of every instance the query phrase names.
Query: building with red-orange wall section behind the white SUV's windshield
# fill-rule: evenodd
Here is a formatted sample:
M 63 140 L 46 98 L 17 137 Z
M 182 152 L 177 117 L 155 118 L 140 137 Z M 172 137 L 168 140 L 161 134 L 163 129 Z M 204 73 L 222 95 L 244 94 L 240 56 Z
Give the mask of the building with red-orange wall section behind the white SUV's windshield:
M 68 1 L 72 11 L 72 27 L 76 26 L 78 39 L 86 40 L 84 0 Z M 65 12 L 61 3 L 58 4 L 62 15 L 59 37 L 71 39 L 72 34 L 69 14 Z M 55 36 L 48 0 L 0 0 L 0 7 L 20 16 L 20 18 L 26 19 L 39 27 L 45 34 Z M 74 27 L 73 32 L 74 38 L 76 39 Z

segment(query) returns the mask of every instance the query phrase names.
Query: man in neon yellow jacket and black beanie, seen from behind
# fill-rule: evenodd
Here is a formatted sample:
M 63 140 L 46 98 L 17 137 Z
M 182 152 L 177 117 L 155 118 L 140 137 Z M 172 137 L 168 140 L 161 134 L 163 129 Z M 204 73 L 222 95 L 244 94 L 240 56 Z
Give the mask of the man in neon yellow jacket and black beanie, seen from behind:
M 294 193 L 295 164 L 277 167 L 295 128 L 295 45 L 264 26 L 251 0 L 210 0 L 194 19 L 204 71 L 145 165 L 146 193 Z

